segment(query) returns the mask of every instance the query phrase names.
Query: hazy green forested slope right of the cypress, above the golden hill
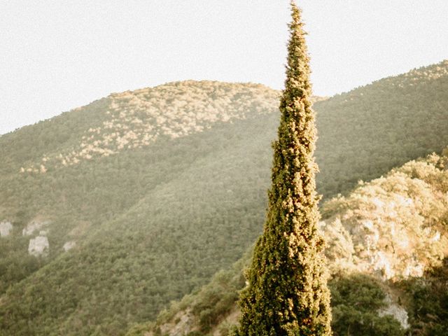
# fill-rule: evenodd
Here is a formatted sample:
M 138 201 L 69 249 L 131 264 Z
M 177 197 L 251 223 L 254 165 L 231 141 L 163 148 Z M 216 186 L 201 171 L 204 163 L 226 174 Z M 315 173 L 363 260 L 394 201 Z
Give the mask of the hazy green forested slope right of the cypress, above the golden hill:
M 444 60 L 316 102 L 321 193 L 344 193 L 360 179 L 442 151 L 448 144 L 447 90 Z

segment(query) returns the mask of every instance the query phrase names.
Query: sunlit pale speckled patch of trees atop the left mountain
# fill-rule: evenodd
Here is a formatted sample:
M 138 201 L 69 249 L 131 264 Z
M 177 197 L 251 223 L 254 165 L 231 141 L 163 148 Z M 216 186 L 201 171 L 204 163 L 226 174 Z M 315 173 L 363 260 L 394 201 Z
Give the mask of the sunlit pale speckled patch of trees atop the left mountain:
M 44 155 L 40 165 L 21 172 L 107 157 L 124 149 L 142 148 L 157 139 L 176 139 L 202 132 L 218 122 L 263 116 L 276 111 L 278 94 L 263 85 L 185 81 L 126 91 L 107 97 L 105 120 L 90 127 L 69 151 Z

